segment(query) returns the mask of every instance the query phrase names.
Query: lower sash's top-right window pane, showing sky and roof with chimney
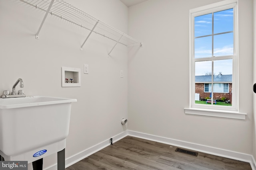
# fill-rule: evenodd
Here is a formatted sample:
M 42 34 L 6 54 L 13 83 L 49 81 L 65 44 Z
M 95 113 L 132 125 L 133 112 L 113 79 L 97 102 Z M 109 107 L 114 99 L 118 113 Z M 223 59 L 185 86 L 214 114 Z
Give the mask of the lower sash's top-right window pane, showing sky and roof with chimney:
M 232 59 L 213 61 L 213 81 L 232 82 Z

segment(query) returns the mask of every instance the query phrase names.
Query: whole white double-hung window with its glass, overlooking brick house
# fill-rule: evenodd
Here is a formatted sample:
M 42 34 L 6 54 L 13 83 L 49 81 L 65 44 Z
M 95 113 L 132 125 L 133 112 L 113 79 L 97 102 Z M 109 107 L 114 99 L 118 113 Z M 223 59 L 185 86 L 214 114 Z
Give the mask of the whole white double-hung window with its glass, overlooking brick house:
M 238 112 L 237 37 L 237 0 L 190 10 L 190 108 L 185 113 L 218 112 L 222 117 L 220 112 Z M 208 101 L 196 101 L 198 93 L 200 100 Z M 220 98 L 230 104 L 215 104 Z

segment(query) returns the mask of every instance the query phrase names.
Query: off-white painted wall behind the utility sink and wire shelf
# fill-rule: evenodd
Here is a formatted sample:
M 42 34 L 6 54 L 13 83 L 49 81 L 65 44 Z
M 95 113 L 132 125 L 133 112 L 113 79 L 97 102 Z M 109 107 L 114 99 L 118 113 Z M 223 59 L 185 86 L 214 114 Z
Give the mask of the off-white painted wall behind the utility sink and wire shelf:
M 66 2 L 127 33 L 128 8 L 119 0 Z M 89 31 L 51 15 L 35 39 L 44 14 L 20 0 L 0 1 L 0 93 L 11 91 L 22 78 L 26 96 L 76 98 L 66 141 L 68 158 L 126 131 L 121 119 L 127 118 L 127 48 L 118 44 L 108 57 L 116 42 L 92 33 L 80 51 Z M 83 74 L 84 64 L 89 74 Z M 62 87 L 62 66 L 81 69 L 81 87 Z M 44 158 L 44 168 L 55 163 L 56 155 Z

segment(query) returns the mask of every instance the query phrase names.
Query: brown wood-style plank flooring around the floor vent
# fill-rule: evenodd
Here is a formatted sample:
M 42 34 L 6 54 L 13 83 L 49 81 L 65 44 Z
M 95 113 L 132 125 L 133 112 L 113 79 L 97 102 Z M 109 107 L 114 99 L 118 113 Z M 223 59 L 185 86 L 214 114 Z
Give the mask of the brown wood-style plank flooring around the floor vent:
M 127 136 L 66 170 L 252 170 L 247 162 L 202 152 L 191 156 L 176 148 Z

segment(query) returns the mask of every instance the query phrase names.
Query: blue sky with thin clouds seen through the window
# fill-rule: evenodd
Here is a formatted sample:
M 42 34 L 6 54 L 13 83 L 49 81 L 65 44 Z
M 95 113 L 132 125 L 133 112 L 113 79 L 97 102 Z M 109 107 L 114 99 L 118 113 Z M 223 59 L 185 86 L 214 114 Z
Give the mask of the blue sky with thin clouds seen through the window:
M 213 25 L 213 26 L 212 26 Z M 233 55 L 233 9 L 195 17 L 195 59 Z M 213 29 L 212 29 L 213 28 Z M 212 50 L 213 39 L 213 50 Z M 196 76 L 212 72 L 212 61 L 196 62 Z M 213 74 L 232 74 L 232 59 L 213 62 Z

